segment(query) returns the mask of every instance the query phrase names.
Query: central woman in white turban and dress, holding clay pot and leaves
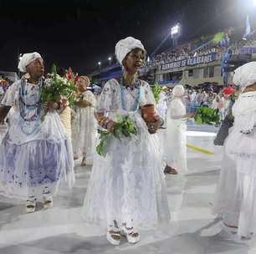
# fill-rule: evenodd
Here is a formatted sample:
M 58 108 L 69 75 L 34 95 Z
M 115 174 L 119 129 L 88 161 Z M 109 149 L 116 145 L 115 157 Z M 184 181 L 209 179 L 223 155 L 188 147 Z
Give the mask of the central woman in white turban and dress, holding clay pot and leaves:
M 96 116 L 100 126 L 113 131 L 120 116 L 129 116 L 138 134 L 121 141 L 110 137 L 106 157 L 95 155 L 84 200 L 84 219 L 107 230 L 107 239 L 120 244 L 121 233 L 129 242 L 140 239 L 138 230 L 169 221 L 166 183 L 161 168 L 157 130 L 161 119 L 146 125 L 140 106 L 155 104 L 149 84 L 136 78 L 146 52 L 135 38 L 120 40 L 115 54 L 124 67 L 120 79 L 110 79 L 100 94 Z

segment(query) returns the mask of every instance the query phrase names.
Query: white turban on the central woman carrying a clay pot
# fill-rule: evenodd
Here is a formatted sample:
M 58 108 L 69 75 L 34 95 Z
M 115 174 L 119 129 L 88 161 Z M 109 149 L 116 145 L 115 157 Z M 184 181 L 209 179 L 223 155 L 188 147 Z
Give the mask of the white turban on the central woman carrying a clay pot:
M 127 53 L 130 53 L 131 50 L 135 48 L 141 48 L 145 51 L 141 41 L 133 37 L 121 39 L 118 43 L 116 43 L 115 55 L 121 65 Z

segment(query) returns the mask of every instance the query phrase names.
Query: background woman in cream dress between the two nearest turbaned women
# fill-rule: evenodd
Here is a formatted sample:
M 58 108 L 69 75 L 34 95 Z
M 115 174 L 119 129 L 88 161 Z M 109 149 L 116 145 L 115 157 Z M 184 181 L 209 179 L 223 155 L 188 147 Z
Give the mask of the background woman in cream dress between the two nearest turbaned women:
M 74 102 L 76 106 L 77 133 L 74 134 L 74 148 L 76 156 L 82 155 L 81 165 L 86 165 L 86 160 L 92 160 L 93 150 L 95 148 L 96 138 L 96 119 L 95 119 L 95 95 L 87 89 L 90 85 L 90 79 L 86 76 L 80 76 L 76 82 L 79 90 L 79 98 Z

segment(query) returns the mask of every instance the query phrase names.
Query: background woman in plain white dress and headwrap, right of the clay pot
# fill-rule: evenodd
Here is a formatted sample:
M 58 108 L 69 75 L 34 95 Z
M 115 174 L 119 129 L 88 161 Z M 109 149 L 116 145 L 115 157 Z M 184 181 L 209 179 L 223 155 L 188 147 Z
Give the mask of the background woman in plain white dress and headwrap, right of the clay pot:
M 172 100 L 166 117 L 166 168 L 165 173 L 177 175 L 187 172 L 187 114 L 182 98 L 185 89 L 178 84 L 172 90 Z

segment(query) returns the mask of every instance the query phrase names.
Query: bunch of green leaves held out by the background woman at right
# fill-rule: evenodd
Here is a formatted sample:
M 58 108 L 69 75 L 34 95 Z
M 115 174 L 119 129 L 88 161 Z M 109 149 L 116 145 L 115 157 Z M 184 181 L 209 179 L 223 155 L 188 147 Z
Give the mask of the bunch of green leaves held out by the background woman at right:
M 219 124 L 218 111 L 215 109 L 200 107 L 195 115 L 196 124 Z

